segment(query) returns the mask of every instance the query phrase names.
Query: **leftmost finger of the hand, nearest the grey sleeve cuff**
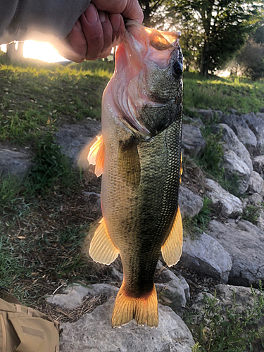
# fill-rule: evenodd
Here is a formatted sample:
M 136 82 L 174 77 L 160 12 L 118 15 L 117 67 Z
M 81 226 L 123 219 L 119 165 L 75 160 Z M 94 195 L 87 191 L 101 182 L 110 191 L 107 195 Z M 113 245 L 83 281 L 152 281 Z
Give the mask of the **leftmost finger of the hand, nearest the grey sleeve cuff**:
M 82 32 L 82 25 L 80 23 L 80 20 L 77 20 L 75 23 L 73 30 L 70 31 L 68 36 L 66 37 L 66 41 L 68 42 L 68 48 L 70 51 L 73 51 L 73 53 L 64 53 L 70 58 L 70 60 L 75 61 L 75 62 L 82 62 L 84 61 L 86 52 L 87 52 L 87 40 L 84 36 L 84 32 Z

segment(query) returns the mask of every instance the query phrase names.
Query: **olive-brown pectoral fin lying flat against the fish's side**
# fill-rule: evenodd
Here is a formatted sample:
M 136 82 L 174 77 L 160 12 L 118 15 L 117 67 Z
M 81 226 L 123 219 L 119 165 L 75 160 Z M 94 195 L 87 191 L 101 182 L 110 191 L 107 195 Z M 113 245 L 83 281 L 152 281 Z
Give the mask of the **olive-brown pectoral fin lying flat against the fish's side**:
M 118 173 L 127 185 L 139 186 L 140 161 L 134 138 L 119 142 Z

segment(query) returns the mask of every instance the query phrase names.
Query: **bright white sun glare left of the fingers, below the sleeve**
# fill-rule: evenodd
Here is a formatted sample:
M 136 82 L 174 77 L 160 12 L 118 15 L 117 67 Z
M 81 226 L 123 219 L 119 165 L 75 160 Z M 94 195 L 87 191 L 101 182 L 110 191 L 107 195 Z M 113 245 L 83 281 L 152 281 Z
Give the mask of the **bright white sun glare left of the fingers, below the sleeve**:
M 48 63 L 67 61 L 63 56 L 58 54 L 58 51 L 51 44 L 35 42 L 34 40 L 25 41 L 23 56 L 24 58 L 35 58 Z

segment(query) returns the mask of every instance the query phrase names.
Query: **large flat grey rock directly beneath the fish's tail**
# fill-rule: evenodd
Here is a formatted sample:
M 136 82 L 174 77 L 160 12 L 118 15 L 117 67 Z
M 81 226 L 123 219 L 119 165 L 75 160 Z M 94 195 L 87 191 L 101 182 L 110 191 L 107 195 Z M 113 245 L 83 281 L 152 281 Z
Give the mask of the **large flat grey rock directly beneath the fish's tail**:
M 135 322 L 111 327 L 114 298 L 73 323 L 62 323 L 61 352 L 191 352 L 194 339 L 182 319 L 167 306 L 158 306 L 158 328 Z

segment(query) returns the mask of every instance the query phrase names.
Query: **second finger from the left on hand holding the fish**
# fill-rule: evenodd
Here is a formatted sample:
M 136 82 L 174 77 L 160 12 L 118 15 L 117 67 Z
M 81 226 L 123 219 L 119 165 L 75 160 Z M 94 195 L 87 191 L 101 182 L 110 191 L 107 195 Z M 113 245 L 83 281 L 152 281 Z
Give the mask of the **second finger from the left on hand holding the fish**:
M 89 4 L 80 17 L 80 21 L 84 36 L 87 40 L 87 53 L 85 58 L 90 61 L 96 60 L 103 50 L 103 28 L 94 4 Z

